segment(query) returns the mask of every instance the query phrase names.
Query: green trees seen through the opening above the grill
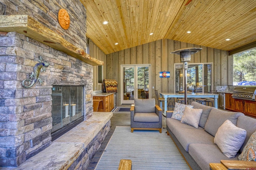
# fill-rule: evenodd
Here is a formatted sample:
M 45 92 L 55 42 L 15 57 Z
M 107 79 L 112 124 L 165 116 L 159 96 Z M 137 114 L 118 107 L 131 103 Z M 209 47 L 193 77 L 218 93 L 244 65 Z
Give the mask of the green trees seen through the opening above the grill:
M 233 55 L 233 81 L 256 81 L 256 49 Z

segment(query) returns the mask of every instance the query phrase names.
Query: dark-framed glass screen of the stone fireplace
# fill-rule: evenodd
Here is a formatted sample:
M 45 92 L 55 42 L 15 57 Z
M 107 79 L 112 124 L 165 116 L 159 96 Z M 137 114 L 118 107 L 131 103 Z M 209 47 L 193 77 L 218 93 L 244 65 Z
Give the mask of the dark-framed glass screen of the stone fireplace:
M 52 134 L 83 120 L 83 86 L 52 87 Z

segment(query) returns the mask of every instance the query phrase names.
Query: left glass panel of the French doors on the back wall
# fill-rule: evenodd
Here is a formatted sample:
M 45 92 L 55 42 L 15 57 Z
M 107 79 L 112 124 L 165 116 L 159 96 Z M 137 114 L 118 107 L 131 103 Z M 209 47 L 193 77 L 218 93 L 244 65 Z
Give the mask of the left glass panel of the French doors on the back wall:
M 134 67 L 124 67 L 124 100 L 134 100 Z

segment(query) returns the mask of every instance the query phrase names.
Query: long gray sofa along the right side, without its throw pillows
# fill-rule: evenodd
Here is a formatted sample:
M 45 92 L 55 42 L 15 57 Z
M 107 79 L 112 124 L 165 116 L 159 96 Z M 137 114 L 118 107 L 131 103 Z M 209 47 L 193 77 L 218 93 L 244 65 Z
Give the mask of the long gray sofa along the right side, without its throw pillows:
M 245 116 L 243 113 L 219 110 L 196 102 L 192 102 L 191 105 L 194 109 L 203 109 L 198 128 L 172 119 L 172 111 L 166 113 L 166 128 L 192 169 L 208 170 L 209 163 L 220 163 L 220 160 L 238 160 L 248 139 L 256 131 L 256 119 Z M 245 141 L 234 158 L 225 156 L 214 143 L 218 128 L 227 119 L 236 127 L 246 130 Z

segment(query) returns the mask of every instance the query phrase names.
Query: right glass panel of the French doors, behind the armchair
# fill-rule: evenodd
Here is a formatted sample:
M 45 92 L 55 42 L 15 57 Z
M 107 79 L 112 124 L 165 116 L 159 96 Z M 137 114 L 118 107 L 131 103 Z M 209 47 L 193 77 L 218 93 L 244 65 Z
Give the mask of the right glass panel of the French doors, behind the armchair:
M 138 67 L 138 99 L 148 99 L 148 67 Z

